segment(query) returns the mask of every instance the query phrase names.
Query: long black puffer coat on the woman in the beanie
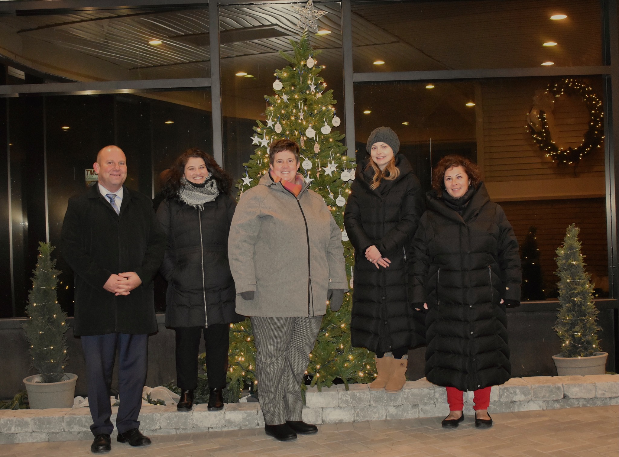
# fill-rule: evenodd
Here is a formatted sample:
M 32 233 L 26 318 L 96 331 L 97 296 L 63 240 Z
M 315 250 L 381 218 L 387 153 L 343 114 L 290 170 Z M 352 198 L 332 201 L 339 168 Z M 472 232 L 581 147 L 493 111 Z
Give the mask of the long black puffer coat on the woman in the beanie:
M 422 318 L 410 308 L 412 240 L 424 209 L 422 190 L 410 162 L 396 155 L 400 175 L 370 189 L 374 170 L 367 159 L 357 167 L 344 212 L 344 226 L 355 248 L 351 341 L 353 346 L 388 352 L 423 343 Z M 365 170 L 365 171 L 363 171 Z M 376 269 L 365 258 L 375 245 L 391 260 Z

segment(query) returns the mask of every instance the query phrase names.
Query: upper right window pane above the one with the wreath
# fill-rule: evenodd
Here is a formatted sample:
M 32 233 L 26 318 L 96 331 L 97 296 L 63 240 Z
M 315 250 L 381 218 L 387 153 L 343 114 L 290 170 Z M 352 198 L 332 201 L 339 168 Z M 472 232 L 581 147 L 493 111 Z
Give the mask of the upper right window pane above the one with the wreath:
M 550 19 L 557 14 L 566 17 Z M 601 65 L 601 17 L 599 0 L 353 2 L 353 67 Z

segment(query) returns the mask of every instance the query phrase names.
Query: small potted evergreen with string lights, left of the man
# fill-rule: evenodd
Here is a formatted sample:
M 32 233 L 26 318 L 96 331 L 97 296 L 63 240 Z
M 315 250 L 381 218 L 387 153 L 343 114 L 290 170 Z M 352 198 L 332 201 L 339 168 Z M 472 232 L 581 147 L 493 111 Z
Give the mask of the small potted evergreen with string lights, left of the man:
M 44 383 L 61 381 L 67 363 L 67 314 L 56 297 L 60 271 L 51 259 L 53 250 L 50 243 L 39 243 L 37 267 L 26 306 L 28 320 L 22 325 L 30 346 L 32 367 Z

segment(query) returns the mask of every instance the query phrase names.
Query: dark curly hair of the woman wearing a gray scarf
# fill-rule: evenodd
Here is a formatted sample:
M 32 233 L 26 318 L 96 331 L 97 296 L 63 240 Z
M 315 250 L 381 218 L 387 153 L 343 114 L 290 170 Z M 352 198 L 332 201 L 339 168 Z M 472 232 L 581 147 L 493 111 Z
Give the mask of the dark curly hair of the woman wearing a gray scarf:
M 178 196 L 178 189 L 181 188 L 181 178 L 185 173 L 185 165 L 187 165 L 187 161 L 191 159 L 191 157 L 204 160 L 206 169 L 213 175 L 221 193 L 227 194 L 230 192 L 230 189 L 232 189 L 232 178 L 230 175 L 228 175 L 222 167 L 217 165 L 212 155 L 202 152 L 197 149 L 197 147 L 192 147 L 179 155 L 172 166 L 161 173 L 162 193 L 165 198 L 174 198 Z

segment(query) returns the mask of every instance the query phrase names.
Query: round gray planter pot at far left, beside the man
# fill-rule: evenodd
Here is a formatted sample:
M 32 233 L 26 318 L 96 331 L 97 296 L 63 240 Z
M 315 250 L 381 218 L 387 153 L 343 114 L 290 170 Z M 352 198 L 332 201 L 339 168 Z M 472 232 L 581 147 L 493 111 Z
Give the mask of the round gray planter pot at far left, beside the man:
M 71 408 L 76 391 L 77 375 L 64 373 L 57 383 L 41 383 L 40 375 L 24 378 L 30 409 Z

